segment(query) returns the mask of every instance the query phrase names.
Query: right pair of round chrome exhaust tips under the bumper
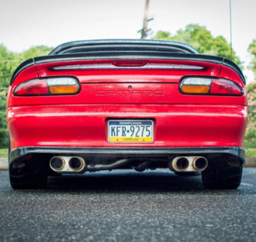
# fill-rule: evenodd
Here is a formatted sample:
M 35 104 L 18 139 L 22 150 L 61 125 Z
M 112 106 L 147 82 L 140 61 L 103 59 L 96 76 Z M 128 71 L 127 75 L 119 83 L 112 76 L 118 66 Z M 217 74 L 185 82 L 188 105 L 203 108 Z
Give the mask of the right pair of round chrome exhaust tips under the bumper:
M 173 172 L 202 172 L 208 166 L 208 161 L 202 156 L 176 157 L 168 163 Z

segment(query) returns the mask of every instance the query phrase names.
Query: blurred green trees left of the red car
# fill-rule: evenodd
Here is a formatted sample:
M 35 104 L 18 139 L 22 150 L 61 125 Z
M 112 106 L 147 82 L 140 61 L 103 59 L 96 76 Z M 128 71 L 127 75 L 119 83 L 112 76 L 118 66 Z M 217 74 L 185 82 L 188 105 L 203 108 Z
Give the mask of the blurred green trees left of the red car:
M 35 46 L 23 53 L 13 53 L 5 46 L 0 45 L 0 148 L 8 147 L 8 130 L 5 117 L 6 88 L 20 63 L 36 56 L 46 56 L 53 48 Z

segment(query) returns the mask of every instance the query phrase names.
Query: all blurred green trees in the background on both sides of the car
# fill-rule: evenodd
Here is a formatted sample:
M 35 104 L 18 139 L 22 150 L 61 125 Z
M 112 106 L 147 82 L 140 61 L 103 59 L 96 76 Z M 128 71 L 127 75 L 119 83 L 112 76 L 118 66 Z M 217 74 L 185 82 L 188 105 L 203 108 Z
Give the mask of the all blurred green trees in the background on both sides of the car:
M 152 39 L 165 39 L 187 43 L 199 53 L 214 56 L 223 56 L 230 59 L 230 44 L 223 36 L 213 37 L 206 27 L 198 25 L 185 26 L 175 35 L 170 32 L 159 31 Z M 5 121 L 5 93 L 9 86 L 12 73 L 24 60 L 36 56 L 46 56 L 53 48 L 47 46 L 35 46 L 23 53 L 12 53 L 5 46 L 0 45 L 0 148 L 8 146 L 8 131 Z M 248 47 L 248 52 L 252 55 L 249 68 L 254 71 L 256 77 L 256 39 Z M 233 49 L 233 61 L 243 69 L 243 63 Z M 247 85 L 249 101 L 249 121 L 244 139 L 246 148 L 256 148 L 256 82 Z

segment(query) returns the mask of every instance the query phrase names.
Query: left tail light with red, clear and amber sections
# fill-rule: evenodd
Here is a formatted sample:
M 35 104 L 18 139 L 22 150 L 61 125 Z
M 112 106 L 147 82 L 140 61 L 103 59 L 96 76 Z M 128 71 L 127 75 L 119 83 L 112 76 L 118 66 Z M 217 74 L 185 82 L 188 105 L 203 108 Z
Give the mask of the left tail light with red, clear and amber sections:
M 80 86 L 74 77 L 49 77 L 28 80 L 14 90 L 16 96 L 78 94 Z

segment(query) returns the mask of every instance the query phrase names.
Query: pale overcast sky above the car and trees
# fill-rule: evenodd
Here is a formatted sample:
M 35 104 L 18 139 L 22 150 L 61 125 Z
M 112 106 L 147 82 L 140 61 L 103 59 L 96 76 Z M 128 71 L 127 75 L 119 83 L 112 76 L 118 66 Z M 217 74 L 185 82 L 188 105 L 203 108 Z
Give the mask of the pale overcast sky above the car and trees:
M 140 39 L 146 0 L 0 0 L 0 44 L 22 52 L 31 46 L 58 46 L 81 39 Z M 256 0 L 231 0 L 233 47 L 244 62 L 256 39 Z M 230 43 L 230 0 L 150 0 L 150 36 L 188 24 L 206 26 L 213 36 Z M 148 38 L 150 38 L 148 36 Z

